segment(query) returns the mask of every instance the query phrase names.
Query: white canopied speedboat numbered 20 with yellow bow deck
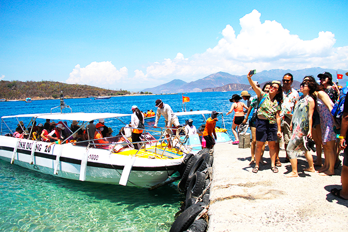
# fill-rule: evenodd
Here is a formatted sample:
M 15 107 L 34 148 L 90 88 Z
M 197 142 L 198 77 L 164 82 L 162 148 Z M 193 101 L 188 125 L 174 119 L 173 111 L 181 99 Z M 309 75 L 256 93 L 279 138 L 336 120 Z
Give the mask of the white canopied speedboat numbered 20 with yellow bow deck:
M 29 118 L 31 122 L 46 119 L 62 122 L 76 120 L 82 121 L 84 126 L 92 120 L 119 119 L 130 115 L 42 113 L 4 116 L 1 118 L 0 158 L 11 164 L 62 178 L 150 188 L 175 173 L 185 157 L 181 149 L 166 149 L 166 144 L 162 143 L 165 139 L 161 137 L 156 140 L 155 135 L 145 133 L 140 150 L 134 149 L 133 144 L 127 141 L 124 135 L 103 138 L 107 142 L 106 145 L 97 144 L 95 140 L 83 142 L 71 140 L 66 143 L 77 131 L 61 144 L 51 144 L 13 137 L 11 136 L 13 131 L 6 123 L 9 120 L 10 124 L 15 125 L 14 122 Z M 10 133 L 5 134 L 4 128 L 9 129 Z M 68 127 L 66 129 L 68 130 Z M 30 137 L 30 134 L 32 133 L 28 131 L 25 137 Z M 98 145 L 102 145 L 103 148 L 96 148 Z

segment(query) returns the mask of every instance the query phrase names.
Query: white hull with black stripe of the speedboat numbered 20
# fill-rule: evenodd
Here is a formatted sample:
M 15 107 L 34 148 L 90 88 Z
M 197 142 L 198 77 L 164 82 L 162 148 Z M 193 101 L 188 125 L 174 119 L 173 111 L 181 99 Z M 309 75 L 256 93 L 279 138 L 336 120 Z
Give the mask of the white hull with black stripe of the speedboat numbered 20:
M 72 144 L 51 147 L 48 145 L 49 143 L 45 142 L 35 143 L 35 141 L 0 136 L 0 158 L 9 163 L 13 159 L 15 165 L 62 178 L 118 184 L 124 166 L 132 157 L 112 153 L 106 149 L 86 149 Z M 150 188 L 163 182 L 178 170 L 182 158 L 136 157 L 127 186 Z

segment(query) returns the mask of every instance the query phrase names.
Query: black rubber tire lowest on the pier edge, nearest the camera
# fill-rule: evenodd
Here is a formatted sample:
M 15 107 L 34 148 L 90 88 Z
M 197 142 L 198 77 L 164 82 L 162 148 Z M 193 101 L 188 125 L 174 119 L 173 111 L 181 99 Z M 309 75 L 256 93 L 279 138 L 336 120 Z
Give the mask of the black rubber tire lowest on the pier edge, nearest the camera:
M 179 217 L 171 225 L 169 232 L 183 232 L 193 223 L 194 219 L 203 211 L 202 205 L 204 203 L 200 202 L 191 205 L 184 212 L 179 215 Z

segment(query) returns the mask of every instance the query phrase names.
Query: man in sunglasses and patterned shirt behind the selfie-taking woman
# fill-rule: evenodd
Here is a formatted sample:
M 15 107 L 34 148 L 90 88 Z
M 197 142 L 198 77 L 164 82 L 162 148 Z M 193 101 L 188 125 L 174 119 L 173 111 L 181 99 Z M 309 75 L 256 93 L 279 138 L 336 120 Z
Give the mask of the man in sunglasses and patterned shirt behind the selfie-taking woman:
M 294 81 L 294 78 L 292 74 L 290 73 L 285 74 L 282 78 L 283 102 L 281 103 L 281 110 L 279 114 L 282 137 L 279 137 L 277 142 L 275 143 L 275 149 L 276 149 L 275 166 L 278 166 L 278 167 L 281 166 L 281 163 L 279 160 L 280 142 L 283 138 L 284 148 L 285 150 L 287 150 L 290 136 L 292 133 L 290 130 L 290 122 L 294 112 L 295 104 L 297 103 L 299 98 L 298 92 L 291 87 L 293 81 Z M 288 163 L 290 162 L 288 152 L 286 154 L 287 156 L 285 158 L 285 163 Z

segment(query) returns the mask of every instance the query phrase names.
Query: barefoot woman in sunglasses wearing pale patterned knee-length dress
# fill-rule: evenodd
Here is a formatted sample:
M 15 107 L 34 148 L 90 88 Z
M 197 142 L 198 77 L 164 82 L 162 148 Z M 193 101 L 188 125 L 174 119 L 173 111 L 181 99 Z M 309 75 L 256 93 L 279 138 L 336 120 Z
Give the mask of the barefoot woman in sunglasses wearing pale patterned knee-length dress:
M 316 85 L 310 81 L 303 81 L 300 85 L 300 91 L 302 92 L 301 98 L 294 107 L 294 113 L 290 122 L 290 129 L 292 134 L 289 144 L 287 146 L 287 154 L 290 158 L 292 171 L 285 174 L 285 177 L 297 177 L 297 157 L 305 154 L 309 168 L 305 169 L 308 172 L 315 172 L 313 165 L 312 154 L 306 149 L 305 139 L 306 136 L 312 138 L 312 115 L 314 111 L 315 102 L 311 97 L 311 94 L 316 90 Z

